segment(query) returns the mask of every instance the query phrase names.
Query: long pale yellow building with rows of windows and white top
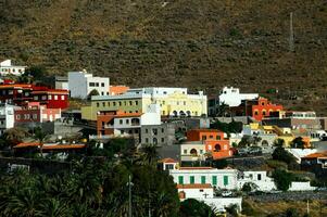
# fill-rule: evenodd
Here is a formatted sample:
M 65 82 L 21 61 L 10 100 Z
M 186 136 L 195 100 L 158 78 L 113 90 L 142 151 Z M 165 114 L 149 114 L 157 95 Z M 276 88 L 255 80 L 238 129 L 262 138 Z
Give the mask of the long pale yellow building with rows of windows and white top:
M 187 88 L 130 89 L 120 95 L 92 97 L 91 105 L 81 107 L 81 118 L 96 120 L 100 111 L 121 110 L 125 113 L 143 113 L 148 105 L 160 105 L 163 116 L 206 115 L 206 95 L 202 91 L 188 94 Z

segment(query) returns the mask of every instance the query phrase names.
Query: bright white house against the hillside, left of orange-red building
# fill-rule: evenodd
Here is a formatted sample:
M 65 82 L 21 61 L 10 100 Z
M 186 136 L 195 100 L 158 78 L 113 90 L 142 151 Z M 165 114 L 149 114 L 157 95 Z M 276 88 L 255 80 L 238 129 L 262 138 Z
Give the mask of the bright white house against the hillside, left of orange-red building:
M 229 106 L 238 106 L 242 100 L 254 100 L 259 98 L 257 93 L 240 93 L 240 89 L 234 87 L 224 87 L 218 101 L 219 104 L 227 104 Z

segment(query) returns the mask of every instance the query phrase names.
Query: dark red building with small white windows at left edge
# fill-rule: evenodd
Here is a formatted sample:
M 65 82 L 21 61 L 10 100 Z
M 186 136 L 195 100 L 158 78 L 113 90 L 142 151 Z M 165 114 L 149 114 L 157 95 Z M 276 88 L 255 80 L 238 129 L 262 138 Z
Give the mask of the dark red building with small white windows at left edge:
M 0 85 L 0 101 L 15 105 L 35 101 L 48 108 L 65 110 L 68 107 L 68 91 L 28 84 Z

